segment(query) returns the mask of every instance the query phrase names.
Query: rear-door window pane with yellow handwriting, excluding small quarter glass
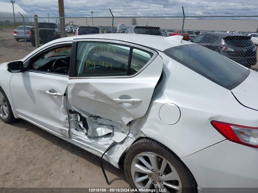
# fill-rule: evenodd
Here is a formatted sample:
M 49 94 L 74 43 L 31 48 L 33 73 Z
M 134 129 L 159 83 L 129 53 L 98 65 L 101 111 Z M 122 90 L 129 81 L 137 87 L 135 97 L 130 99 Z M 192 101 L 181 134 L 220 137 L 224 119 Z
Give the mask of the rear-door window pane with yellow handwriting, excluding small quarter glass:
M 105 42 L 78 42 L 77 76 L 125 76 L 130 47 Z

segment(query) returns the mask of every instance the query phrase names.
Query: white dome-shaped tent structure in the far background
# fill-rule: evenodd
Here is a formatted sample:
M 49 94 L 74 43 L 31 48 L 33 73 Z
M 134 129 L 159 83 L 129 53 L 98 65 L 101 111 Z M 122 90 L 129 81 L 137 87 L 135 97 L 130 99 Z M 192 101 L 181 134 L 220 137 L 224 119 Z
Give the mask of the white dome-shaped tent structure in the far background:
M 9 22 L 10 24 L 14 23 L 13 8 L 14 8 L 14 16 L 15 16 L 16 22 L 23 22 L 23 19 L 20 13 L 25 17 L 24 18 L 25 22 L 29 21 L 29 18 L 26 18 L 28 17 L 27 13 L 16 3 L 12 5 L 12 3 L 0 2 L 0 23 L 2 22 Z

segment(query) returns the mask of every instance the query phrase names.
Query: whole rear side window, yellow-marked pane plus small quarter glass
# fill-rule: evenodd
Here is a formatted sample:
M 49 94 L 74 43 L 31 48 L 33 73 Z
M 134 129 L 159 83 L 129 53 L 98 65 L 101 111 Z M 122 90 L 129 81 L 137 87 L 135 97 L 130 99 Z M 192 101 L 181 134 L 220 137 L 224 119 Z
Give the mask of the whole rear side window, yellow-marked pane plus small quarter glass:
M 132 57 L 129 58 L 130 50 Z M 140 48 L 106 42 L 78 42 L 76 76 L 129 76 L 136 74 L 154 54 Z

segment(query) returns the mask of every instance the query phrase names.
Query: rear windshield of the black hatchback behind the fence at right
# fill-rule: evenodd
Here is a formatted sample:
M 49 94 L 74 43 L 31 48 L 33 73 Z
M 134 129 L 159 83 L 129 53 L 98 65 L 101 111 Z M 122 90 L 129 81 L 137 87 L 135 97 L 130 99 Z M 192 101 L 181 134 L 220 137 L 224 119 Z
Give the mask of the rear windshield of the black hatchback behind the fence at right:
M 223 38 L 227 45 L 237 47 L 249 47 L 253 45 L 250 36 L 227 36 Z

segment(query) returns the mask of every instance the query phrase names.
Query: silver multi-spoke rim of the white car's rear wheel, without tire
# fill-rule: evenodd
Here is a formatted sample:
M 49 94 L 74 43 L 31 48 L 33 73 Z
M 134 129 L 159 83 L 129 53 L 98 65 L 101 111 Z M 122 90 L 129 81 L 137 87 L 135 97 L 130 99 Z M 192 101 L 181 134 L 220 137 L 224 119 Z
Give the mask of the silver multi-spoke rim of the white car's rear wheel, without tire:
M 131 175 L 137 188 L 182 192 L 181 179 L 175 167 L 156 153 L 142 152 L 136 155 L 131 165 Z

